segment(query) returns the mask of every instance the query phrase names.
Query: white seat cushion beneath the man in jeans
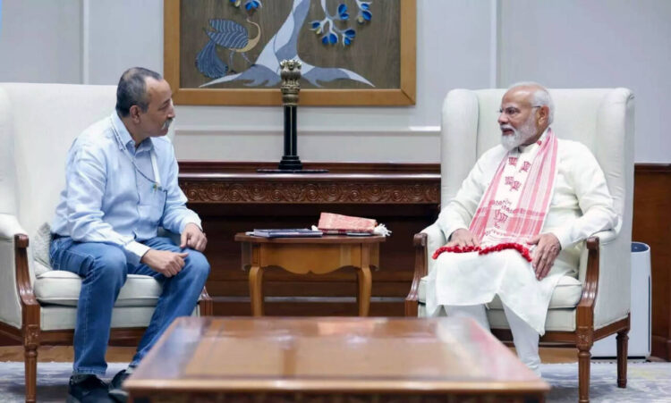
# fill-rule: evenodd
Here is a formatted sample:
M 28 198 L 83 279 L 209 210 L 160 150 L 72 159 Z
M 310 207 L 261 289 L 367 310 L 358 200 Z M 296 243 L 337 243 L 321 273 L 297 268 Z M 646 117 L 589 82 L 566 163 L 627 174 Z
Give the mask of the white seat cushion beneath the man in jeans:
M 49 270 L 37 276 L 33 290 L 40 304 L 77 306 L 81 277 L 65 270 Z M 156 306 L 162 291 L 163 286 L 153 277 L 128 274 L 115 306 Z

